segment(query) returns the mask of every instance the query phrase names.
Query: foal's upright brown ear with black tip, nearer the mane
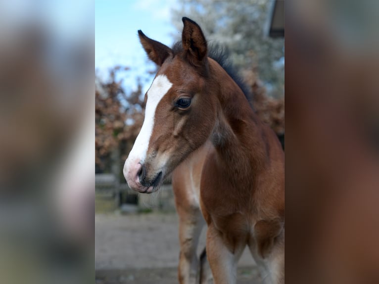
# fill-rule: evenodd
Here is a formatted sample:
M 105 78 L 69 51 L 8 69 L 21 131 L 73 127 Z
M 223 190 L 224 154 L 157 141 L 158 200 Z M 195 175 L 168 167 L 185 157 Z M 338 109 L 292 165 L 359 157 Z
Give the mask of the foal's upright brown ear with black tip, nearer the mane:
M 187 17 L 183 17 L 182 21 L 184 24 L 182 45 L 183 49 L 190 55 L 189 59 L 195 59 L 197 61 L 202 61 L 204 58 L 206 59 L 207 42 L 201 28 Z

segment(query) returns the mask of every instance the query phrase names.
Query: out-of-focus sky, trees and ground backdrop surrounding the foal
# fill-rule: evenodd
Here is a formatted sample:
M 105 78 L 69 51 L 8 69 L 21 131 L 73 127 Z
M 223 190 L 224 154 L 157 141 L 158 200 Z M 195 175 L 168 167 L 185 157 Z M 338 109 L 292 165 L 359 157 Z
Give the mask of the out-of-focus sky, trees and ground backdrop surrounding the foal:
M 144 94 L 157 71 L 137 31 L 172 47 L 181 40 L 183 16 L 200 25 L 208 44 L 224 47 L 228 63 L 238 70 L 252 94 L 251 104 L 284 146 L 283 2 L 96 0 L 98 283 L 177 283 L 178 220 L 170 181 L 155 195 L 137 194 L 128 188 L 122 170 L 142 127 Z M 205 230 L 198 254 L 204 246 Z M 262 281 L 247 251 L 239 265 L 238 283 Z

